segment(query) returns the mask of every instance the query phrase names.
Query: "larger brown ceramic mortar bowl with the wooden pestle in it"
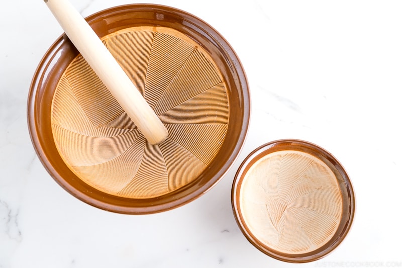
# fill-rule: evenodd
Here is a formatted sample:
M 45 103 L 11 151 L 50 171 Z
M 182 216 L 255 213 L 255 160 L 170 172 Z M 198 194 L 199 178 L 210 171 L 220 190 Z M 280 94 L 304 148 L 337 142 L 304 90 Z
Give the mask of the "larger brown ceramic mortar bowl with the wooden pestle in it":
M 28 99 L 36 153 L 76 198 L 127 214 L 169 210 L 211 189 L 237 158 L 250 116 L 242 65 L 204 21 L 159 5 L 86 18 L 169 130 L 150 145 L 62 35 Z

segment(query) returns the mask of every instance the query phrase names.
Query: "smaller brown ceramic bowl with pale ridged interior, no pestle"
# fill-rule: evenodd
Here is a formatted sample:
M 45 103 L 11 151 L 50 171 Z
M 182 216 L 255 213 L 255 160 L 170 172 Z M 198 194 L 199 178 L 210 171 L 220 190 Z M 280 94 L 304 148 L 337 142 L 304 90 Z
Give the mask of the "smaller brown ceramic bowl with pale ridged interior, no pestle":
M 237 223 L 276 259 L 308 262 L 335 249 L 355 211 L 349 177 L 335 157 L 301 140 L 269 142 L 249 154 L 232 188 Z

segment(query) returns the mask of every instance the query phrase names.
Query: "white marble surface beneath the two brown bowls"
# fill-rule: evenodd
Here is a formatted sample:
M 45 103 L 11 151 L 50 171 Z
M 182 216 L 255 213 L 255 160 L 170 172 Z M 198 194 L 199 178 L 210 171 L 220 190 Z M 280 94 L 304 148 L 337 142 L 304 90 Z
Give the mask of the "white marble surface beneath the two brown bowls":
M 72 0 L 83 16 L 128 0 Z M 40 59 L 62 33 L 43 1 L 0 4 L 0 267 L 402 266 L 402 2 L 155 0 L 196 15 L 238 53 L 252 118 L 238 161 L 210 192 L 154 215 L 93 208 L 62 190 L 35 155 L 26 103 Z M 289 264 L 239 231 L 230 190 L 265 142 L 332 152 L 357 197 L 354 225 L 322 260 Z

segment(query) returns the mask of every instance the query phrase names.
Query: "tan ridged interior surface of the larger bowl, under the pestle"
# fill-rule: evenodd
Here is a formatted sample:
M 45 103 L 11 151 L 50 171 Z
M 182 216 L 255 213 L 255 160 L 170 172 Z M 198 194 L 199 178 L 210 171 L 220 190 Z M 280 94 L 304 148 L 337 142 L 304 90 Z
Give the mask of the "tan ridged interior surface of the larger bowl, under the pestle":
M 194 181 L 225 139 L 225 82 L 208 54 L 163 27 L 124 29 L 104 44 L 169 131 L 150 145 L 81 55 L 62 75 L 52 103 L 52 131 L 65 163 L 108 194 L 152 198 Z

